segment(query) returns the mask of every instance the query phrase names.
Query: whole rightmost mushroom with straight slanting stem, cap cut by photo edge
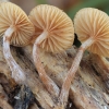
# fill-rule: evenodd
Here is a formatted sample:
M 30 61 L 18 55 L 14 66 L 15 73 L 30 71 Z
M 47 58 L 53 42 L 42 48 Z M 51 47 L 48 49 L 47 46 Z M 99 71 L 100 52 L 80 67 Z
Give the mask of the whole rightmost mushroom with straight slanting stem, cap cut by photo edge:
M 82 45 L 62 85 L 59 97 L 61 104 L 68 101 L 71 82 L 86 49 L 93 53 L 109 57 L 109 16 L 105 12 L 94 8 L 80 10 L 74 19 L 74 28 Z

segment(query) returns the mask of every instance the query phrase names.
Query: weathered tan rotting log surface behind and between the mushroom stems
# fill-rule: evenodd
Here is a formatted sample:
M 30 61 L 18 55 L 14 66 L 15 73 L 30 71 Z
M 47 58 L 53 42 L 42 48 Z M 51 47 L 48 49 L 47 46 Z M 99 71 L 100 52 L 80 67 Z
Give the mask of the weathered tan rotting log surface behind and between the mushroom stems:
M 2 39 L 0 44 L 2 44 Z M 57 99 L 53 99 L 52 96 L 49 95 L 38 78 L 32 59 L 32 46 L 24 48 L 11 46 L 11 52 L 26 73 L 27 85 L 31 87 L 36 98 L 36 107 L 39 109 L 51 109 L 51 107 L 53 107 L 53 101 Z M 59 87 L 61 87 L 64 81 L 75 53 L 76 49 L 74 49 L 74 47 L 61 55 L 52 55 L 40 50 L 40 59 L 45 70 Z M 97 63 L 97 60 L 99 60 L 99 58 L 97 59 L 95 55 L 84 55 L 70 89 L 70 101 L 73 102 L 71 109 L 109 109 L 108 87 L 101 76 L 101 72 L 104 73 L 106 71 L 104 68 L 99 68 L 100 65 Z M 10 69 L 2 55 L 2 45 L 0 45 L 0 73 L 3 73 L 8 81 L 12 82 Z M 10 87 L 14 87 L 13 84 L 11 85 Z

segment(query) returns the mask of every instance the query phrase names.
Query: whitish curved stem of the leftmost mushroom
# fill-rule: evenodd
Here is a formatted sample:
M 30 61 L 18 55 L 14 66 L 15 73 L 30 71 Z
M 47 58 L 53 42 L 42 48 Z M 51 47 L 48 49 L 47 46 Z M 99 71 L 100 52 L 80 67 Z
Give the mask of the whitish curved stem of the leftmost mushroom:
M 10 51 L 10 39 L 11 39 L 11 35 L 13 34 L 13 32 L 14 32 L 14 28 L 9 27 L 4 33 L 3 55 L 8 62 L 8 65 L 10 66 L 11 71 L 12 71 L 12 77 L 15 80 L 16 83 L 23 84 L 26 78 L 25 74 L 22 71 L 22 69 L 19 66 L 19 64 L 15 62 L 15 60 L 13 59 L 11 51 Z

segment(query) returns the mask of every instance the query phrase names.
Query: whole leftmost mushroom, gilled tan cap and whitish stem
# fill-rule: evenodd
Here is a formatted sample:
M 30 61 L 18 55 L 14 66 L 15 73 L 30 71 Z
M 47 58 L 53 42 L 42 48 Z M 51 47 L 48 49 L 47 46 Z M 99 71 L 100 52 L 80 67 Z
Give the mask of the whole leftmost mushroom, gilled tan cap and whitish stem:
M 11 2 L 0 4 L 0 33 L 3 35 L 3 55 L 16 83 L 25 82 L 23 70 L 13 59 L 10 45 L 22 47 L 28 45 L 35 32 L 34 25 L 25 12 Z

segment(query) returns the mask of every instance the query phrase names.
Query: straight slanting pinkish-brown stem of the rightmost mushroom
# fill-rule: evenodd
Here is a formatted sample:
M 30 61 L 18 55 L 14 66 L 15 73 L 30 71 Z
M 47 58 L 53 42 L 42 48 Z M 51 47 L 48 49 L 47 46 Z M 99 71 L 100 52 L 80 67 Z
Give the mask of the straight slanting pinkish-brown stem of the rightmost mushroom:
M 65 107 L 66 101 L 68 101 L 71 82 L 74 80 L 74 76 L 75 76 L 75 73 L 78 69 L 83 53 L 86 50 L 86 48 L 88 48 L 93 43 L 94 43 L 94 39 L 88 38 L 84 44 L 82 44 L 82 46 L 80 47 L 80 49 L 78 49 L 78 51 L 73 60 L 72 66 L 71 66 L 70 71 L 68 72 L 65 81 L 62 84 L 61 93 L 59 96 L 59 104 L 64 106 L 64 107 Z

